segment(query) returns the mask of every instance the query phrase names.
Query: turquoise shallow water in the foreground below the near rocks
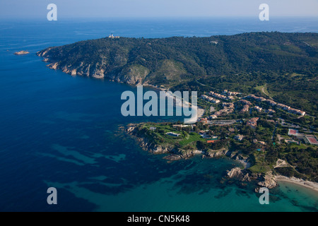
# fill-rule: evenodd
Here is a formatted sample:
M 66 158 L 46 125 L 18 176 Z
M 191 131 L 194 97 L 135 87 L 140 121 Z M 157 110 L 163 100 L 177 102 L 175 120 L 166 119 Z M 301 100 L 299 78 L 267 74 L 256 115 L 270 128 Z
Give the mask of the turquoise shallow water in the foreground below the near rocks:
M 85 188 L 86 182 L 48 185 L 66 189 L 78 198 L 95 203 L 98 211 L 317 211 L 317 194 L 307 189 L 281 184 L 280 189 L 273 191 L 270 204 L 261 206 L 259 196 L 251 192 L 251 188 L 220 184 L 219 170 L 230 165 L 228 160 L 192 161 L 195 162 L 192 166 L 171 177 L 136 186 L 120 196 L 92 192 Z M 97 183 L 104 184 L 103 179 L 96 179 Z

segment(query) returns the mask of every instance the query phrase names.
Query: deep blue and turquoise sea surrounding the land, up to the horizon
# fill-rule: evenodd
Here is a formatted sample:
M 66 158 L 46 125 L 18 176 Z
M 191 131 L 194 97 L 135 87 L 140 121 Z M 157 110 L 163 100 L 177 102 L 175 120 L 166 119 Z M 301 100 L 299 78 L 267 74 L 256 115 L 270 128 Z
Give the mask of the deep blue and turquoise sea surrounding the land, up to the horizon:
M 318 18 L 59 19 L 0 21 L 0 211 L 317 211 L 309 189 L 281 183 L 261 206 L 249 185 L 224 183 L 239 162 L 167 162 L 123 126 L 171 117 L 122 117 L 130 85 L 72 77 L 35 53 L 107 37 L 204 37 L 242 32 L 318 32 Z M 13 53 L 27 50 L 28 55 Z M 47 189 L 57 188 L 57 205 Z

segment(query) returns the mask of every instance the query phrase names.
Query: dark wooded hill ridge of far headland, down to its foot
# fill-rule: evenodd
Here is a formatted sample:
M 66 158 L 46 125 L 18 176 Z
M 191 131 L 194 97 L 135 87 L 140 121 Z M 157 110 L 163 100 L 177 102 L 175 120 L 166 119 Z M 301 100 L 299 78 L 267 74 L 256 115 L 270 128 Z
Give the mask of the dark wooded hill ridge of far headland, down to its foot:
M 306 44 L 317 38 L 317 34 L 281 32 L 155 39 L 105 37 L 48 47 L 37 56 L 45 58 L 50 69 L 73 76 L 133 85 L 177 85 L 221 74 L 232 78 L 233 73 L 250 71 L 317 71 L 317 47 Z

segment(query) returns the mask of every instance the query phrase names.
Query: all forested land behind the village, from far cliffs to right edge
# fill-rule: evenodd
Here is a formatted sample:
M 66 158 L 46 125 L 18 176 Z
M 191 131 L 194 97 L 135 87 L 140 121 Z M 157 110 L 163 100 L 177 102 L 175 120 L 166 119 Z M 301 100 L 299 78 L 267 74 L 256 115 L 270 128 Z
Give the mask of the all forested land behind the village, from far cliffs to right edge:
M 106 37 L 38 54 L 57 62 L 57 69 L 76 69 L 80 75 L 93 76 L 99 71 L 115 81 L 165 85 L 172 90 L 205 92 L 213 87 L 271 95 L 317 116 L 317 43 L 317 33 Z

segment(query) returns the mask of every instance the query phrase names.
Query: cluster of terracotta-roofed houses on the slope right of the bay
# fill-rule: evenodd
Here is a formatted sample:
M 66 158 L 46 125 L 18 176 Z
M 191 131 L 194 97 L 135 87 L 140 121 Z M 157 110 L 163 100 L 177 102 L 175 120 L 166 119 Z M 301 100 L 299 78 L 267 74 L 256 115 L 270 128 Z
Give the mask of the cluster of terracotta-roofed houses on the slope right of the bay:
M 201 117 L 199 121 L 204 124 L 218 124 L 218 125 L 230 125 L 235 124 L 237 121 L 235 120 L 225 120 L 229 117 L 230 114 L 244 114 L 244 116 L 248 116 L 248 114 L 261 114 L 266 115 L 266 117 L 273 117 L 273 114 L 276 111 L 273 108 L 281 109 L 289 114 L 294 114 L 300 117 L 305 117 L 306 112 L 300 109 L 294 109 L 293 107 L 289 107 L 287 105 L 283 105 L 281 103 L 275 102 L 271 99 L 266 99 L 264 97 L 257 97 L 256 95 L 247 95 L 242 97 L 242 93 L 231 92 L 229 90 L 223 90 L 222 94 L 215 93 L 213 91 L 209 92 L 207 95 L 201 95 L 201 99 L 207 102 L 211 102 L 214 105 L 218 105 L 221 107 L 218 111 L 210 112 L 211 114 L 207 117 Z M 264 107 L 259 107 L 258 105 L 263 105 Z M 214 108 L 214 107 L 213 107 Z M 214 108 L 215 109 L 215 108 Z M 218 120 L 221 118 L 222 120 Z M 257 121 L 259 121 L 259 117 L 254 117 L 247 119 L 245 124 L 252 129 L 257 129 Z M 267 120 L 272 124 L 280 124 L 283 126 L 284 120 Z M 290 125 L 290 129 L 293 129 L 293 125 Z M 297 126 L 296 126 L 297 127 Z M 299 128 L 299 126 L 298 126 Z M 317 145 L 317 137 L 313 135 L 313 133 L 308 133 L 304 136 L 294 136 L 293 134 L 288 133 L 288 136 L 285 136 L 286 143 L 307 143 L 312 145 Z M 240 134 L 237 135 L 240 137 L 240 141 L 242 141 L 242 137 Z M 281 136 L 278 136 L 278 142 L 283 141 Z

